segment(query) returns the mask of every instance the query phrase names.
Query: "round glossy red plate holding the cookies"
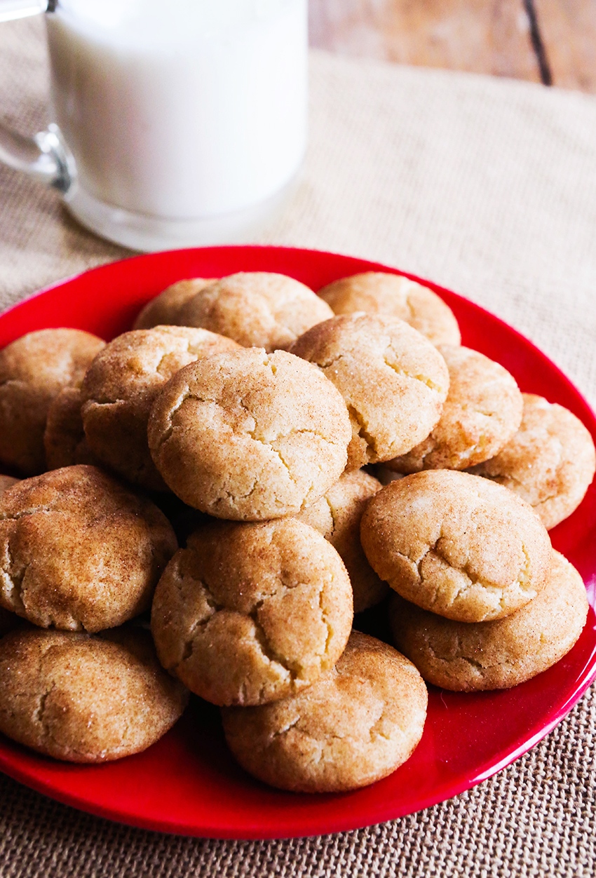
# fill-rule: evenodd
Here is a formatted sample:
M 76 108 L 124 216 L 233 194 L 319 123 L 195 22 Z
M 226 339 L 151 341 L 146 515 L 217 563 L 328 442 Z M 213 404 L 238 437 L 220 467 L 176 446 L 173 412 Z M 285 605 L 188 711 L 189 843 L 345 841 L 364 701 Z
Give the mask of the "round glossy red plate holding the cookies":
M 0 347 L 43 327 L 79 327 L 106 339 L 129 328 L 140 307 L 183 277 L 280 271 L 314 290 L 384 266 L 289 248 L 230 247 L 137 256 L 57 284 L 0 317 Z M 399 273 L 399 272 L 395 272 Z M 502 363 L 521 389 L 571 409 L 596 438 L 578 391 L 525 338 L 482 308 L 428 284 L 453 308 L 463 343 Z M 559 723 L 596 676 L 596 486 L 551 531 L 576 565 L 592 605 L 573 650 L 534 680 L 506 692 L 456 694 L 430 687 L 424 735 L 391 777 L 343 795 L 279 792 L 253 781 L 226 751 L 217 709 L 195 702 L 144 753 L 103 766 L 55 762 L 0 737 L 0 768 L 17 781 L 101 817 L 215 838 L 284 838 L 376 824 L 427 808 L 490 777 Z

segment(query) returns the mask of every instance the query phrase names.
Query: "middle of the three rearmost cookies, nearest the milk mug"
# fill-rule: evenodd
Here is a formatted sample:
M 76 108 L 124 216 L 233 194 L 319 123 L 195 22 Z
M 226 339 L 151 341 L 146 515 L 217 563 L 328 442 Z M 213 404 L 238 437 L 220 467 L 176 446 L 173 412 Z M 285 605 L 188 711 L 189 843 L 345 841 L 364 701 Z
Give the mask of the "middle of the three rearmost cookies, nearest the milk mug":
M 181 308 L 178 322 L 272 351 L 289 348 L 298 335 L 329 317 L 331 308 L 293 277 L 241 271 L 198 291 Z

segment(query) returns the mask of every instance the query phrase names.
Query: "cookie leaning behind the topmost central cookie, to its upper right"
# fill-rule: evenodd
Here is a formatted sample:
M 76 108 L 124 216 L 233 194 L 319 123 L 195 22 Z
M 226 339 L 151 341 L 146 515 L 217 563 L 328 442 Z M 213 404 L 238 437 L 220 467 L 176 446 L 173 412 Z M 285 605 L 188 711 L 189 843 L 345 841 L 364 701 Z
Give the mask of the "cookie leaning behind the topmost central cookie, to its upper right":
M 370 314 L 312 327 L 291 353 L 319 366 L 348 407 L 348 470 L 405 454 L 441 417 L 449 373 L 431 342 L 403 320 Z

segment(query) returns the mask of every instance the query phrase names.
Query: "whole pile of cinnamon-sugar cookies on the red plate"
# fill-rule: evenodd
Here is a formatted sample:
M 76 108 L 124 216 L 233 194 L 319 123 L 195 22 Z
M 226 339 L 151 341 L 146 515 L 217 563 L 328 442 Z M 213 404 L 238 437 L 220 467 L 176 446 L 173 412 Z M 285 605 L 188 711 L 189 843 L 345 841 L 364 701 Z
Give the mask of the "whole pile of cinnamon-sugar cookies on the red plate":
M 0 640 L 6 734 L 116 759 L 190 690 L 249 773 L 334 792 L 408 759 L 424 680 L 513 686 L 575 643 L 585 589 L 546 528 L 592 439 L 434 292 L 191 278 L 107 345 L 76 333 L 0 352 L 0 460 L 29 477 L 0 498 L 0 625 L 27 623 Z M 352 628 L 390 593 L 399 651 Z

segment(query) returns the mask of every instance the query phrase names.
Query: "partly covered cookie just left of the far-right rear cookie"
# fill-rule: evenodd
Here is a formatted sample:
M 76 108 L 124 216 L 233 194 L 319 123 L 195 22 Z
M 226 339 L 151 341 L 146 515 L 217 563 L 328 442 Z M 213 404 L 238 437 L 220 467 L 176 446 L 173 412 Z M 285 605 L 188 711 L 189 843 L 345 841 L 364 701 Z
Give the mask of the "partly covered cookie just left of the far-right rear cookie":
M 513 375 L 477 350 L 438 349 L 449 369 L 441 419 L 413 450 L 385 464 L 391 470 L 463 470 L 494 457 L 520 427 L 523 403 Z

